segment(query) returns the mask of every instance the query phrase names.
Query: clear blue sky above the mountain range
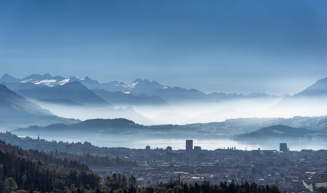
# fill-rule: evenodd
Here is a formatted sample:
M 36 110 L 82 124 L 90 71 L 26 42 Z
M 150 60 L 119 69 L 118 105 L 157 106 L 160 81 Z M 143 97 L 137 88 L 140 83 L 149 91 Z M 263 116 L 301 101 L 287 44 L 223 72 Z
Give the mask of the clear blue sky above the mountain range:
M 327 77 L 327 1 L 0 1 L 0 76 L 298 93 Z

